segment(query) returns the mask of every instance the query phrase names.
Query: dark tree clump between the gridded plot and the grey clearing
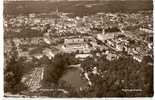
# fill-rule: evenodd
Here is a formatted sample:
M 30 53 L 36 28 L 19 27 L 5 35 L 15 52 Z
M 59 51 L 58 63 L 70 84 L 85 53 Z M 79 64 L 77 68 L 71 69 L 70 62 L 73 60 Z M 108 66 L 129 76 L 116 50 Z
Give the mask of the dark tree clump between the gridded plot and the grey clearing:
M 58 84 L 59 79 L 67 71 L 68 66 L 76 64 L 74 54 L 57 54 L 45 68 L 44 82 Z

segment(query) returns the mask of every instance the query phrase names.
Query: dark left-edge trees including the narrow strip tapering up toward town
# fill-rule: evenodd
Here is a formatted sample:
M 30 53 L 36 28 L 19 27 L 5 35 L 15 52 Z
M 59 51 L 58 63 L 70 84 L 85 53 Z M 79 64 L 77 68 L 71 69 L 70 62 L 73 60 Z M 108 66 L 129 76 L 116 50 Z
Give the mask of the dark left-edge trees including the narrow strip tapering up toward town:
M 21 83 L 24 74 L 24 58 L 18 57 L 18 51 L 15 43 L 11 41 L 12 50 L 10 52 L 10 60 L 4 69 L 4 92 L 20 93 L 25 90 L 26 86 Z

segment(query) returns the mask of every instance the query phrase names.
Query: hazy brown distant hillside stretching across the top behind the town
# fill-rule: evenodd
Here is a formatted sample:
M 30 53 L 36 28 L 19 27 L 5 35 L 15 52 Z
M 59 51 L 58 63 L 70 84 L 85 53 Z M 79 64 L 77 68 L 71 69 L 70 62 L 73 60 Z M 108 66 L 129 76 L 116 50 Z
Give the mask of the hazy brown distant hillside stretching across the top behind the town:
M 104 1 L 9 1 L 4 3 L 4 15 L 29 13 L 48 13 L 56 10 L 73 13 L 77 16 L 90 15 L 97 12 L 137 12 L 153 10 L 152 0 L 104 0 Z

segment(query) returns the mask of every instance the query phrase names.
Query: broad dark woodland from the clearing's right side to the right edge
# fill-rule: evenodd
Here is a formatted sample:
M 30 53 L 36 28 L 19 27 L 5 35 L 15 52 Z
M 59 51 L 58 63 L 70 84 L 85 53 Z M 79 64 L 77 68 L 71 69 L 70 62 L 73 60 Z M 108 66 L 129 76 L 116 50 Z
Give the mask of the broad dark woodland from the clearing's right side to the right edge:
M 150 57 L 144 57 L 142 63 L 128 56 L 114 61 L 105 57 L 88 58 L 82 67 L 89 72 L 96 66 L 100 75 L 89 74 L 93 86 L 84 91 L 86 97 L 115 97 L 115 96 L 152 96 L 153 95 L 153 66 Z M 125 92 L 122 89 L 140 89 L 142 91 Z

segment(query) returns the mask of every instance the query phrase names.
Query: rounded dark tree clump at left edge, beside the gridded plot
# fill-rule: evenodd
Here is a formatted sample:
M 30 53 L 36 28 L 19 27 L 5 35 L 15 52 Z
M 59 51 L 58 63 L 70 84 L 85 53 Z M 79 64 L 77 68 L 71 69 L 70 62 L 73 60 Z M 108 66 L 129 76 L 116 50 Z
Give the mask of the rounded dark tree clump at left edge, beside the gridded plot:
M 21 83 L 24 72 L 22 64 L 21 60 L 16 61 L 13 58 L 7 64 L 4 70 L 4 92 L 16 94 L 26 89 L 26 86 Z

